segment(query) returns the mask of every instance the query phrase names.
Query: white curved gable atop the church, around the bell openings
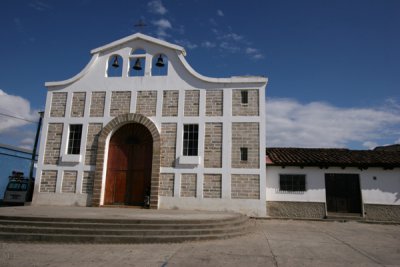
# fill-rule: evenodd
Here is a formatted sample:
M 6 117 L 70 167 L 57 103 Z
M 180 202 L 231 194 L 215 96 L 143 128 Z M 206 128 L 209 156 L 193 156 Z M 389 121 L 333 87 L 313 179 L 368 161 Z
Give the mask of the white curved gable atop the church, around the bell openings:
M 132 51 L 136 49 L 143 49 L 145 54 L 134 55 Z M 46 82 L 46 87 L 59 87 L 68 86 L 82 79 L 89 79 L 88 84 L 95 85 L 93 81 L 98 81 L 99 84 L 109 84 L 109 81 L 103 79 L 110 78 L 108 76 L 108 68 L 112 68 L 109 62 L 112 62 L 112 57 L 115 55 L 121 57 L 119 62 L 121 70 L 120 78 L 131 78 L 136 76 L 142 76 L 143 81 L 153 85 L 152 81 L 145 81 L 148 78 L 161 79 L 160 77 L 155 78 L 152 76 L 152 62 L 154 57 L 158 57 L 160 54 L 168 60 L 168 72 L 165 76 L 168 76 L 169 81 L 163 82 L 163 85 L 171 84 L 171 86 L 182 86 L 185 83 L 194 85 L 195 87 L 212 87 L 210 84 L 219 84 L 217 87 L 229 87 L 230 84 L 243 84 L 243 86 L 255 86 L 259 87 L 266 84 L 267 78 L 265 77 L 230 77 L 230 78 L 210 78 L 203 76 L 196 72 L 185 59 L 185 49 L 181 46 L 168 43 L 163 40 L 159 40 L 141 33 L 136 33 L 131 36 L 122 38 L 114 41 L 110 44 L 95 48 L 91 51 L 92 59 L 88 65 L 74 77 L 57 82 Z M 140 62 L 138 62 L 140 61 Z M 142 68 L 139 75 L 134 75 L 136 72 L 132 71 L 132 67 L 139 64 Z M 118 77 L 112 77 L 118 78 Z M 151 80 L 150 78 L 150 80 Z M 115 81 L 115 80 L 113 80 Z M 141 81 L 141 82 L 143 82 Z M 181 83 L 183 81 L 183 83 Z M 156 82 L 157 84 L 157 82 Z

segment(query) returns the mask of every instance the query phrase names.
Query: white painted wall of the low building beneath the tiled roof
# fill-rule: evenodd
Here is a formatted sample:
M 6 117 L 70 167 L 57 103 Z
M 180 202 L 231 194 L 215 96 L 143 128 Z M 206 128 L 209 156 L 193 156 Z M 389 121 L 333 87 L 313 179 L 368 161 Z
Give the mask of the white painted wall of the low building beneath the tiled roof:
M 359 174 L 362 202 L 364 204 L 400 205 L 400 169 L 319 167 L 267 167 L 267 201 L 326 202 L 325 173 Z M 305 192 L 280 192 L 280 174 L 305 174 Z M 374 179 L 374 177 L 376 179 Z

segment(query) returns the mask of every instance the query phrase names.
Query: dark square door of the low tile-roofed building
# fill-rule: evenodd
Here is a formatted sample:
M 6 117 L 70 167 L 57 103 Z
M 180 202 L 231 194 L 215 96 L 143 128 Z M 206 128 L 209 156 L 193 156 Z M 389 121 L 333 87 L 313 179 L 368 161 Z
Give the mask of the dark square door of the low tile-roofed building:
M 361 190 L 358 174 L 325 174 L 328 212 L 361 213 Z

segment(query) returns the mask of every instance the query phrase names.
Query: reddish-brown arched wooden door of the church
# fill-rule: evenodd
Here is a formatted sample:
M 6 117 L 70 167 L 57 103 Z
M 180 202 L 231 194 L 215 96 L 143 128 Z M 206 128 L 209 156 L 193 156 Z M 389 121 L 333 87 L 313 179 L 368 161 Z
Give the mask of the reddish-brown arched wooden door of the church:
M 122 126 L 108 148 L 104 205 L 143 206 L 150 196 L 153 139 L 138 123 Z

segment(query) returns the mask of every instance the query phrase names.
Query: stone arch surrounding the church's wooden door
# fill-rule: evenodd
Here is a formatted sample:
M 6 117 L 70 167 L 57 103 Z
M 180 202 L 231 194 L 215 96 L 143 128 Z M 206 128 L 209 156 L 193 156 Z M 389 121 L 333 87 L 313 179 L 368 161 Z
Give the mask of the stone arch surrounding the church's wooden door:
M 139 123 L 144 125 L 153 137 L 153 161 L 151 168 L 151 194 L 150 208 L 158 208 L 158 192 L 160 187 L 160 133 L 155 124 L 141 114 L 129 113 L 115 117 L 101 131 L 97 144 L 96 170 L 93 181 L 92 206 L 99 207 L 101 192 L 103 190 L 103 171 L 108 137 L 121 126 L 127 123 Z

